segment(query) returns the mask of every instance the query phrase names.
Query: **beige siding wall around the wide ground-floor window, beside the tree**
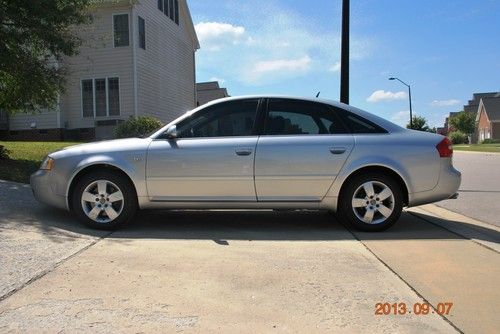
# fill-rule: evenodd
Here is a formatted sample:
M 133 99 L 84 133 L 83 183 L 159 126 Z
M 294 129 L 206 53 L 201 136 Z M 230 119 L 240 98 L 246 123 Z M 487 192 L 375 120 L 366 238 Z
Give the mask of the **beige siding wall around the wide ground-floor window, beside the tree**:
M 130 45 L 113 45 L 113 14 L 129 14 Z M 63 64 L 68 70 L 66 91 L 61 96 L 62 126 L 67 129 L 89 128 L 95 120 L 127 119 L 134 115 L 132 16 L 129 6 L 99 7 L 89 26 L 78 27 L 84 41 L 77 56 Z M 81 80 L 120 78 L 120 116 L 83 118 Z

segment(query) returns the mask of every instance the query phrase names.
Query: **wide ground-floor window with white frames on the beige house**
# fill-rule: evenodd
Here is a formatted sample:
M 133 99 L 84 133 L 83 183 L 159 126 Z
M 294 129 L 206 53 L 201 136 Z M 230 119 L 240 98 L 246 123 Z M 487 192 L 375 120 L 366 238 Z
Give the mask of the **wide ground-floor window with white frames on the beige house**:
M 118 78 L 82 80 L 83 117 L 120 115 L 120 82 Z

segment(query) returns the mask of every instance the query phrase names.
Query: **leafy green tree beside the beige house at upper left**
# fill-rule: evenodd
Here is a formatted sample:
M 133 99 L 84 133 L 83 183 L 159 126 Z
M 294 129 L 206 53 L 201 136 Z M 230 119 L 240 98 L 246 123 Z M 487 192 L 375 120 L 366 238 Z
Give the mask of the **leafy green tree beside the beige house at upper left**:
M 0 109 L 53 107 L 64 91 L 65 56 L 77 54 L 72 29 L 90 22 L 92 0 L 0 0 Z

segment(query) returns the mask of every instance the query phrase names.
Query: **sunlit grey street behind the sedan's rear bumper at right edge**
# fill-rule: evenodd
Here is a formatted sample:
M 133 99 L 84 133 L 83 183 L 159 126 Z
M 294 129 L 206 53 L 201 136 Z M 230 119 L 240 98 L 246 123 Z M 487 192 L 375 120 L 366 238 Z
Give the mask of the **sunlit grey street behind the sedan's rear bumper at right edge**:
M 453 164 L 462 172 L 460 196 L 437 205 L 500 226 L 500 154 L 455 151 Z

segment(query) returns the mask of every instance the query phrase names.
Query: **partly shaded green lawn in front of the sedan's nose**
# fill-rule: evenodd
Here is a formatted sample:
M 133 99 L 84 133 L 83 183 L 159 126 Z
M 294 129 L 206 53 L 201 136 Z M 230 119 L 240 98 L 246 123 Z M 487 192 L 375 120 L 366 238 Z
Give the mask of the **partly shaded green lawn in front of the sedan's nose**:
M 74 142 L 5 142 L 0 141 L 8 151 L 9 159 L 0 160 L 0 179 L 29 183 L 42 160 L 50 152 L 75 145 Z

